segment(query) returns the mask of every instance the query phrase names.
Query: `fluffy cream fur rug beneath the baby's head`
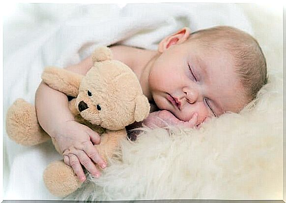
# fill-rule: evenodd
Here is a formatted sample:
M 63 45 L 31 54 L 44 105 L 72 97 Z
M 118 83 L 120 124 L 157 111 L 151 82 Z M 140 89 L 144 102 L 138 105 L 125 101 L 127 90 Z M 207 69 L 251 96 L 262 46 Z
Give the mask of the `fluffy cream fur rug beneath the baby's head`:
M 255 31 L 266 31 L 260 18 L 253 20 Z M 257 101 L 240 114 L 212 119 L 200 130 L 144 129 L 136 142 L 122 143 L 122 154 L 102 177 L 68 199 L 281 200 L 283 70 L 276 44 L 280 35 L 269 39 L 270 34 L 258 38 L 269 59 L 269 84 Z

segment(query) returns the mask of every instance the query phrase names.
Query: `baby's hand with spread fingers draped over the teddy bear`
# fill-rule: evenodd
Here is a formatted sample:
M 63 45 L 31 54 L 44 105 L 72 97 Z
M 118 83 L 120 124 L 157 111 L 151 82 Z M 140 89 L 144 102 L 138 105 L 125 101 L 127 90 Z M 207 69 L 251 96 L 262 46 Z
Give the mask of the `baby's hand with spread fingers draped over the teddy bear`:
M 99 177 L 100 172 L 94 163 L 102 169 L 106 167 L 106 163 L 93 145 L 100 143 L 100 136 L 87 126 L 73 120 L 60 123 L 54 132 L 64 163 L 73 168 L 79 179 L 83 182 L 86 180 L 81 164 L 92 175 Z

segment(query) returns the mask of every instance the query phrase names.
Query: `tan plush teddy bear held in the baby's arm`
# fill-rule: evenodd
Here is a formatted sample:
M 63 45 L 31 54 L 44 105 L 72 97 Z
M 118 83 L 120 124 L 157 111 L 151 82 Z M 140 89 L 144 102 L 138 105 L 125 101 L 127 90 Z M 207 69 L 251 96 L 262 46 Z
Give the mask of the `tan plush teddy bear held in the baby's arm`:
M 69 101 L 70 111 L 76 121 L 101 135 L 100 144 L 94 147 L 107 161 L 119 148 L 118 141 L 126 138 L 125 127 L 143 121 L 150 104 L 135 73 L 127 65 L 112 60 L 108 47 L 97 48 L 92 60 L 94 66 L 85 76 L 48 67 L 42 73 L 42 80 L 75 98 Z M 34 105 L 23 99 L 17 99 L 8 109 L 6 131 L 12 140 L 26 146 L 51 138 L 38 124 Z M 52 142 L 61 154 L 57 141 L 52 138 Z M 73 169 L 62 160 L 49 164 L 43 178 L 48 190 L 57 197 L 65 197 L 82 185 Z

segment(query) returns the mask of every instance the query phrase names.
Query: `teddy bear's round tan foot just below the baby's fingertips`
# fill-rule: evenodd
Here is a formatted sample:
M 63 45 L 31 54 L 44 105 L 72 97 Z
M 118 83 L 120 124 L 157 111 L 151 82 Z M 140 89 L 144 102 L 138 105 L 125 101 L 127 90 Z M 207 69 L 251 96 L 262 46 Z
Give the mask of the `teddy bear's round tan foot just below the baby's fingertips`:
M 73 169 L 62 160 L 49 164 L 43 176 L 46 187 L 57 197 L 66 197 L 82 185 Z

